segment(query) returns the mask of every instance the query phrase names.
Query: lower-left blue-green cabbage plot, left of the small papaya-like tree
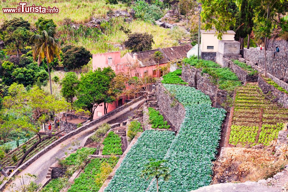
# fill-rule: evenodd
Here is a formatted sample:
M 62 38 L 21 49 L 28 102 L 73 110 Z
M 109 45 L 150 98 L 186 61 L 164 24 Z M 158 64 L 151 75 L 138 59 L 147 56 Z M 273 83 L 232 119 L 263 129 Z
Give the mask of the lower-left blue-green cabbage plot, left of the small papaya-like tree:
M 172 131 L 147 130 L 127 153 L 105 192 L 145 192 L 150 181 L 140 177 L 149 159 L 162 160 L 175 133 Z

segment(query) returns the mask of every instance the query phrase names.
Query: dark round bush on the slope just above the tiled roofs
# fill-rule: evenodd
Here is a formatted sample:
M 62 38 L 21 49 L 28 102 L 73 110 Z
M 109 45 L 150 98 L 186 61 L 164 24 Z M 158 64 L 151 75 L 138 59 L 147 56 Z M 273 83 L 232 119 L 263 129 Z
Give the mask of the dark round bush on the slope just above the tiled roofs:
M 146 51 L 152 49 L 154 43 L 153 36 L 148 33 L 132 33 L 128 35 L 128 40 L 124 42 L 132 52 Z

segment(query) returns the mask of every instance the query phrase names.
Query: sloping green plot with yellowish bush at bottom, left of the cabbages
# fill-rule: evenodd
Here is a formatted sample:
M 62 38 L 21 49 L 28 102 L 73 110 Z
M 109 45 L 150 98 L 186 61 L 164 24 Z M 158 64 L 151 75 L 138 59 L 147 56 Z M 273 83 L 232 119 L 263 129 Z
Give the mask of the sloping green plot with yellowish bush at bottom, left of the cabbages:
M 115 157 L 92 159 L 84 172 L 75 179 L 68 192 L 98 192 L 105 180 L 101 178 L 107 178 L 117 162 L 118 158 Z M 103 171 L 105 165 L 110 168 L 108 171 Z

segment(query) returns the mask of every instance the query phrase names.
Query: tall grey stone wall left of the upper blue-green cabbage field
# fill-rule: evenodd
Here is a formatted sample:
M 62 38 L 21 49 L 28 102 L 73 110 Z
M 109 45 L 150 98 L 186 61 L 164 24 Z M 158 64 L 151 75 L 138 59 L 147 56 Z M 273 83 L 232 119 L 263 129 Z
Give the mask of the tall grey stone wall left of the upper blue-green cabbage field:
M 185 86 L 185 85 L 183 85 Z M 164 88 L 161 83 L 156 86 L 157 104 L 161 108 L 166 118 L 179 131 L 180 126 L 185 118 L 185 109 L 170 93 Z M 175 104 L 176 103 L 176 104 Z M 171 107 L 171 104 L 174 106 Z

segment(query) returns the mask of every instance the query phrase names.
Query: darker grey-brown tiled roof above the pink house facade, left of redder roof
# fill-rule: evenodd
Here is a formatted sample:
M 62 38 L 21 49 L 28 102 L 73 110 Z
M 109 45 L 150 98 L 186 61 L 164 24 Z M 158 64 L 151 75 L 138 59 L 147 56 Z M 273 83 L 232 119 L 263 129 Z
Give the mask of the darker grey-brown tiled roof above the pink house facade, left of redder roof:
M 151 66 L 151 65 L 158 65 L 158 61 L 154 60 L 153 54 L 156 51 L 162 52 L 160 49 L 154 49 L 154 50 L 149 50 L 149 51 L 141 51 L 141 52 L 136 52 L 137 53 L 137 59 L 142 62 L 143 66 Z M 133 57 L 134 53 L 130 53 L 130 55 Z M 168 63 L 169 59 L 163 54 L 163 57 L 160 61 L 159 64 L 163 63 Z

